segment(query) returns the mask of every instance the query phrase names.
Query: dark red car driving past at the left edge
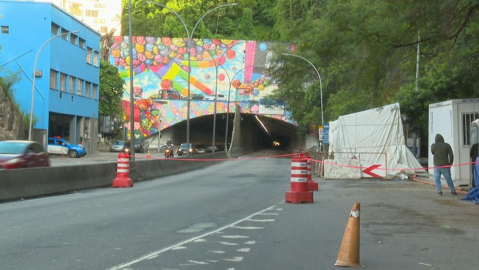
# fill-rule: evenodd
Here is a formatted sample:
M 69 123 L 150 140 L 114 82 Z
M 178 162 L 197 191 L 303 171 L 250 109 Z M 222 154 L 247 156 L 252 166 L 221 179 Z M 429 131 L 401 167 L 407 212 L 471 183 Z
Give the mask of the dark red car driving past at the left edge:
M 48 166 L 48 154 L 39 143 L 0 141 L 0 170 Z

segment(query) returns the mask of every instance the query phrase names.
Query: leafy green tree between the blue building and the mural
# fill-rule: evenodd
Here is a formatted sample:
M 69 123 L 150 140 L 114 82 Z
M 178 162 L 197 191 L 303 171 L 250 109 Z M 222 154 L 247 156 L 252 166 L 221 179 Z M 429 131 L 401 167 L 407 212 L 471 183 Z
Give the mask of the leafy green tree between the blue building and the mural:
M 118 68 L 109 62 L 100 62 L 100 100 L 99 114 L 102 116 L 120 116 L 119 104 L 123 96 L 125 80 L 118 75 Z

